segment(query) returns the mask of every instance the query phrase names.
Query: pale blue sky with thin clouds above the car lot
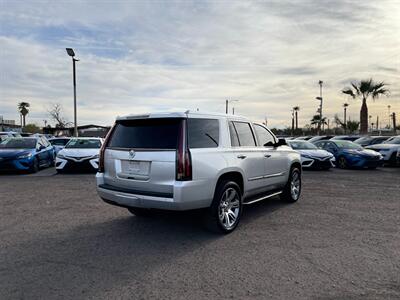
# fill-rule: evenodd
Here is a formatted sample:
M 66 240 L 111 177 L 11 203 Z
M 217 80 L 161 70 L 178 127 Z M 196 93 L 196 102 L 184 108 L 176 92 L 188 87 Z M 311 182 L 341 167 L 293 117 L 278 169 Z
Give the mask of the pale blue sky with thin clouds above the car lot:
M 72 120 L 75 49 L 80 124 L 159 110 L 225 111 L 271 127 L 315 113 L 324 81 L 329 118 L 349 102 L 351 80 L 372 77 L 391 96 L 369 104 L 387 122 L 400 115 L 398 1 L 5 1 L 0 0 L 0 115 L 49 120 L 52 103 Z M 386 118 L 386 120 L 385 120 Z

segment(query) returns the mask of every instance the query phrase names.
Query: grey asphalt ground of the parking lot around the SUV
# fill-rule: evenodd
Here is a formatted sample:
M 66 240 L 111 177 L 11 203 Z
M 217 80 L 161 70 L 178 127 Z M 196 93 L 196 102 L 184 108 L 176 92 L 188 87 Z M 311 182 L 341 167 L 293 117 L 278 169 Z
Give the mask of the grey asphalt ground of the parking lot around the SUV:
M 400 168 L 304 172 L 230 235 L 139 218 L 93 174 L 0 176 L 0 299 L 399 299 Z

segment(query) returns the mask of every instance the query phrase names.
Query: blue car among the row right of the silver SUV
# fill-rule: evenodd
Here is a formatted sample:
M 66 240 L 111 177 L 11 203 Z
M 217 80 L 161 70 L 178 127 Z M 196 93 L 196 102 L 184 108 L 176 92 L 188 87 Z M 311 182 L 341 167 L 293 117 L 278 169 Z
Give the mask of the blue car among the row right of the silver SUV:
M 383 165 L 383 156 L 379 152 L 364 149 L 360 145 L 350 141 L 317 141 L 314 145 L 332 153 L 336 158 L 337 167 L 341 169 L 375 169 Z

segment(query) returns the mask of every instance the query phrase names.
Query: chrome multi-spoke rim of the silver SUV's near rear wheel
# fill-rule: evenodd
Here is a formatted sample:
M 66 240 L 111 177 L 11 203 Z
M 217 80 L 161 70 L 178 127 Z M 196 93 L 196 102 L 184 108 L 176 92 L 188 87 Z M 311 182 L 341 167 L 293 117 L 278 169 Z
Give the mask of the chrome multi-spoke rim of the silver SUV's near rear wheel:
M 226 229 L 232 229 L 238 220 L 240 213 L 240 199 L 234 188 L 228 188 L 221 197 L 218 207 L 218 217 L 221 225 Z

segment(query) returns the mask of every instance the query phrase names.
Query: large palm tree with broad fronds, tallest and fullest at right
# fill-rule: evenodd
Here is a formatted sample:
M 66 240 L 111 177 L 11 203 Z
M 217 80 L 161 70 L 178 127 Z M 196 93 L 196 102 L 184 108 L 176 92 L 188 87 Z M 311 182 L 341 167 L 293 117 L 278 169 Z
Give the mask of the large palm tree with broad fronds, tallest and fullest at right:
M 369 96 L 372 100 L 379 98 L 381 95 L 389 95 L 389 90 L 386 88 L 384 82 L 375 83 L 372 78 L 367 80 L 361 80 L 359 82 L 352 82 L 352 87 L 347 87 L 342 90 L 342 93 L 351 96 L 353 99 L 356 97 L 362 99 L 362 105 L 360 110 L 360 133 L 368 132 L 368 107 L 367 99 Z

